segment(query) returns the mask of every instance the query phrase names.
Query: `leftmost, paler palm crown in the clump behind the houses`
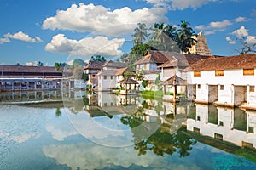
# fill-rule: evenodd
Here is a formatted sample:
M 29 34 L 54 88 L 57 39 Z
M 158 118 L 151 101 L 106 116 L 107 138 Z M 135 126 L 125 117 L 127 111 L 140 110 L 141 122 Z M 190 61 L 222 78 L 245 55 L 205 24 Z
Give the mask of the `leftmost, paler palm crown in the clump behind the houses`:
M 135 33 L 132 35 L 132 37 L 135 37 L 133 40 L 135 45 L 143 44 L 143 42 L 148 37 L 148 29 L 145 23 L 137 23 L 137 27 L 134 29 Z

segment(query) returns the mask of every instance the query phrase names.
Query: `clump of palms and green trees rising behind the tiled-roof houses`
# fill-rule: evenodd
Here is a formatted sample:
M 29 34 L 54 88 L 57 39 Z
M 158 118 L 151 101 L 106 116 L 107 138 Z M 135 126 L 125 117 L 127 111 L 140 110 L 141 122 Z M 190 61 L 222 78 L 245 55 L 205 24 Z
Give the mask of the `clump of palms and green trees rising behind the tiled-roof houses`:
M 134 63 L 148 50 L 189 53 L 189 48 L 196 42 L 192 38 L 195 32 L 189 25 L 189 22 L 181 21 L 178 28 L 164 23 L 155 23 L 153 27 L 147 28 L 146 24 L 138 23 L 132 34 L 134 45 L 131 52 L 123 54 L 121 61 L 128 62 L 129 68 L 134 71 Z

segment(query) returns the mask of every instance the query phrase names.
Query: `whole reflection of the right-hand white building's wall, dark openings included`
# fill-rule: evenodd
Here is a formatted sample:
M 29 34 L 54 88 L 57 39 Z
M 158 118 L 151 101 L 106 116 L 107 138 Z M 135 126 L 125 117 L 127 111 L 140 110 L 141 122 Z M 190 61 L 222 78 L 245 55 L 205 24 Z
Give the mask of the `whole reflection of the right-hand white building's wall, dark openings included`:
M 187 130 L 256 150 L 256 112 L 239 108 L 195 105 L 189 113 Z

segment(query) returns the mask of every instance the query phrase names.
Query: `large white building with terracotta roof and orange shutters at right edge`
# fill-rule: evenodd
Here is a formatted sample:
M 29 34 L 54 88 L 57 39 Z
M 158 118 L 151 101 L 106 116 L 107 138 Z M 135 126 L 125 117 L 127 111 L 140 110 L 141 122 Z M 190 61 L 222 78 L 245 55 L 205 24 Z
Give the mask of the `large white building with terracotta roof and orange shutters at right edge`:
M 256 54 L 202 59 L 190 65 L 195 102 L 256 108 Z

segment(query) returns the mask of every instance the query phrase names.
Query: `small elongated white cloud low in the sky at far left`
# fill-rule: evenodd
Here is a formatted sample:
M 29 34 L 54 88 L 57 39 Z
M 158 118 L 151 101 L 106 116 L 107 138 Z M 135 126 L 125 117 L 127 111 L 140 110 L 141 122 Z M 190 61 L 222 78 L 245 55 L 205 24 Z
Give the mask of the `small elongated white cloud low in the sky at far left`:
M 24 42 L 32 42 L 32 43 L 43 42 L 40 37 L 32 38 L 32 37 L 30 37 L 29 35 L 25 34 L 22 31 L 19 31 L 15 34 L 7 33 L 7 34 L 4 35 L 4 37 L 12 38 L 12 39 L 16 39 L 16 40 L 20 40 L 20 41 L 24 41 Z

